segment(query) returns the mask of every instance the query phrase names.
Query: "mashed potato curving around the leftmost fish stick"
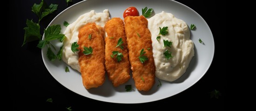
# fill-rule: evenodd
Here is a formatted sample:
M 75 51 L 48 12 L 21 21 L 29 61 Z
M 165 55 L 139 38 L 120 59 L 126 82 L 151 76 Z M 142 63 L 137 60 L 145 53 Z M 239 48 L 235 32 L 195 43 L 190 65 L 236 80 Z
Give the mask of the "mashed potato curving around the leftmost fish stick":
M 78 41 L 79 29 L 87 23 L 96 23 L 101 27 L 104 27 L 105 23 L 110 20 L 109 11 L 104 10 L 103 13 L 96 13 L 94 10 L 81 15 L 75 22 L 70 24 L 64 34 L 66 36 L 63 41 L 62 60 L 69 66 L 80 72 L 80 66 L 78 63 L 78 52 L 71 51 L 71 44 Z

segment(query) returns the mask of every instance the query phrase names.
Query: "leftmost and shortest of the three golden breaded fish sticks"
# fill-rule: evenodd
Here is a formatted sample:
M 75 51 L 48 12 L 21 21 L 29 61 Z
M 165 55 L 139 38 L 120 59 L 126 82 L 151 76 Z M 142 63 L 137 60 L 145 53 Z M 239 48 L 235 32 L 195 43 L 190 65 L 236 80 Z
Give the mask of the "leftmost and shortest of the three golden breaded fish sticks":
M 91 35 L 89 37 L 89 35 Z M 79 65 L 82 74 L 83 86 L 86 89 L 103 85 L 105 81 L 104 68 L 104 31 L 95 23 L 84 25 L 78 34 Z M 84 55 L 84 47 L 91 47 L 92 54 Z

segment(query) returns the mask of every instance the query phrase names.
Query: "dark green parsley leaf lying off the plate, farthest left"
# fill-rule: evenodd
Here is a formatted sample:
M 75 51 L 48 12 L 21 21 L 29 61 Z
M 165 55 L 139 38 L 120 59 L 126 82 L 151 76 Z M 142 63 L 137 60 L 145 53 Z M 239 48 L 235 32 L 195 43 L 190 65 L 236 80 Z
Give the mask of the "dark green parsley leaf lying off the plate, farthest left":
M 42 35 L 40 34 L 39 24 L 36 24 L 32 20 L 28 20 L 28 19 L 26 24 L 27 24 L 27 27 L 24 28 L 25 35 L 24 35 L 24 41 L 22 46 L 28 42 L 38 40 L 42 37 Z

